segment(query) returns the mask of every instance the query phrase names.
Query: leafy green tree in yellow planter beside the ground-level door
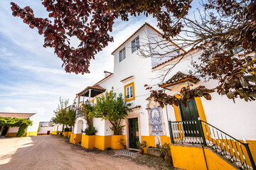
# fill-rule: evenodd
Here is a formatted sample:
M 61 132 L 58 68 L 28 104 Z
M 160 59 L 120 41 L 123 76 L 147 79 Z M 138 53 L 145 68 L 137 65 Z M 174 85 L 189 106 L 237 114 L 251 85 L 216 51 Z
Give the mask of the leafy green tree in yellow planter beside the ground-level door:
M 132 111 L 128 106 L 130 103 L 125 103 L 122 98 L 122 94 L 117 96 L 113 92 L 106 93 L 105 96 L 96 99 L 97 103 L 94 106 L 95 118 L 102 118 L 103 120 L 109 120 L 112 124 L 111 130 L 113 130 L 114 135 L 122 135 L 122 128 L 124 126 L 120 125 L 121 120 L 125 118 L 127 112 Z

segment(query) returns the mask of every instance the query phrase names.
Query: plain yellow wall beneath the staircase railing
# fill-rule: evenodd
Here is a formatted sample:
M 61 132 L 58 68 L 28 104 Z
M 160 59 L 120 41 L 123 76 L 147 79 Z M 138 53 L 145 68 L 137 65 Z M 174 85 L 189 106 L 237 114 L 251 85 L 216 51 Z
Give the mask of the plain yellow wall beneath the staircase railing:
M 203 149 L 201 147 L 186 147 L 179 145 L 171 145 L 171 157 L 174 162 L 174 167 L 180 169 L 206 169 L 206 162 L 208 169 L 223 169 L 235 170 L 233 166 L 221 159 L 217 154 L 204 148 L 206 154 L 206 161 L 203 156 Z

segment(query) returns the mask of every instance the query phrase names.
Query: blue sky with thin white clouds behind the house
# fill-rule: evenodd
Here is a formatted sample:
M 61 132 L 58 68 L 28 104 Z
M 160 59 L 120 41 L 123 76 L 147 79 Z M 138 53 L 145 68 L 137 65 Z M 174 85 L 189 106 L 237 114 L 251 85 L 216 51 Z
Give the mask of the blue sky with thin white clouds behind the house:
M 48 16 L 41 1 L 12 0 L 18 6 L 31 6 L 36 17 Z M 156 28 L 151 17 L 117 19 L 111 42 L 91 61 L 90 74 L 66 73 L 63 62 L 53 49 L 43 47 L 43 36 L 21 18 L 12 16 L 11 1 L 0 1 L 0 112 L 37 113 L 40 121 L 50 121 L 59 98 L 69 99 L 104 78 L 104 71 L 113 72 L 111 53 L 145 22 Z

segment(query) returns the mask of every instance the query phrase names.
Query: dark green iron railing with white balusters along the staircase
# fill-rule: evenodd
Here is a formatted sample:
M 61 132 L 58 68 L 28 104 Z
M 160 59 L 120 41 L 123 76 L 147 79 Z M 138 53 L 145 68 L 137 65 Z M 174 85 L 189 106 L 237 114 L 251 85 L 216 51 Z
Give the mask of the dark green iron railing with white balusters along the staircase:
M 256 170 L 247 142 L 241 142 L 203 120 L 169 122 L 171 143 L 203 145 L 240 169 Z

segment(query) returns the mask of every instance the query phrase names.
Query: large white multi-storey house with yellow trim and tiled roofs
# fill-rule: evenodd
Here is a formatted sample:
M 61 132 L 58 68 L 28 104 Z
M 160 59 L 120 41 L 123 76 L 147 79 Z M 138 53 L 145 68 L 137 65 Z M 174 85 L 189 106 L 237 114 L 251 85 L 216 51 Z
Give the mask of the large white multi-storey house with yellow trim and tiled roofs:
M 136 148 L 138 140 L 146 141 L 146 147 L 155 147 L 157 144 L 172 142 L 171 154 L 176 167 L 204 169 L 205 166 L 209 166 L 214 169 L 214 167 L 221 165 L 223 169 L 235 168 L 233 164 L 226 164 L 223 158 L 220 159 L 212 154 L 213 152 L 210 149 L 213 148 L 210 147 L 215 146 L 215 149 L 220 149 L 221 153 L 225 150 L 223 157 L 230 157 L 229 160 L 235 162 L 238 166 L 252 166 L 250 155 L 246 151 L 246 144 L 240 141 L 244 138 L 247 139 L 252 157 L 256 159 L 256 114 L 253 113 L 256 109 L 255 102 L 245 102 L 237 99 L 236 103 L 233 103 L 226 96 L 213 93 L 212 100 L 195 98 L 195 100 L 188 103 L 187 108 L 181 105 L 178 107 L 159 107 L 159 104 L 153 98 L 149 98 L 149 91 L 144 87 L 145 84 L 154 86 L 154 89 L 158 89 L 157 85 L 159 84 L 167 94 L 175 95 L 188 83 L 193 84 L 193 87 L 203 85 L 209 88 L 217 82 L 210 81 L 206 84 L 203 80 L 189 75 L 191 60 L 198 60 L 201 55 L 198 50 L 193 50 L 187 54 L 181 62 L 178 62 L 181 58 L 179 54 L 185 52 L 184 50 L 177 51 L 177 57 L 172 58 L 164 57 L 161 59 L 157 55 L 142 57 L 141 50 L 146 52 L 153 49 L 161 53 L 160 47 L 151 44 L 155 40 L 163 40 L 161 39 L 161 33 L 145 23 L 112 52 L 112 55 L 114 55 L 114 73 L 105 72 L 105 78 L 78 93 L 78 103 L 87 99 L 94 103 L 96 97 L 110 91 L 113 86 L 114 92 L 122 93 L 125 96 L 125 101 L 132 103 L 132 112 L 128 113 L 125 120 L 122 121 L 122 125 L 125 125 L 122 138 L 128 148 Z M 178 48 L 174 42 L 169 41 L 168 43 L 171 47 Z M 149 56 L 147 53 L 144 55 Z M 161 82 L 158 77 L 162 74 L 162 71 L 177 62 L 178 64 L 167 75 L 165 79 L 167 81 Z M 198 118 L 202 121 L 198 122 Z M 90 147 L 99 149 L 117 148 L 115 144 L 117 140 L 112 130 L 110 130 L 110 122 L 94 118 L 93 123 L 97 133 L 93 137 L 93 144 L 90 144 Z M 199 123 L 201 126 L 197 126 Z M 78 114 L 70 142 L 82 142 L 83 146 L 88 146 L 83 144 L 83 140 L 87 140 L 87 138 L 82 135 L 81 130 L 85 130 L 85 128 L 85 120 Z M 201 131 L 203 131 L 203 137 L 202 133 L 201 136 L 199 135 Z M 181 145 L 178 145 L 179 143 Z M 184 143 L 188 145 L 193 143 L 193 146 L 196 144 L 205 145 L 206 151 L 202 152 L 202 147 L 185 147 Z M 238 147 L 235 147 L 235 145 L 238 145 Z M 183 155 L 187 156 L 186 159 Z M 193 157 L 198 157 L 198 162 Z M 203 157 L 206 157 L 206 159 L 203 159 Z M 243 162 L 246 162 L 246 164 Z

